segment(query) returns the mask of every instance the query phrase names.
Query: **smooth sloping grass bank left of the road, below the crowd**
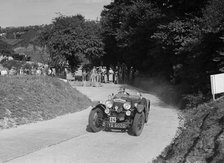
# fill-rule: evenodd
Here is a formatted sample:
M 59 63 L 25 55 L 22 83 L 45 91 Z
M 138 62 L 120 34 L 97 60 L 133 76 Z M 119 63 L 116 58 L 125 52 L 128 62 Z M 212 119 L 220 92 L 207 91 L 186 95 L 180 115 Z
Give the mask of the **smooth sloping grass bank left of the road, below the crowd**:
M 0 129 L 86 109 L 91 101 L 59 79 L 0 76 Z

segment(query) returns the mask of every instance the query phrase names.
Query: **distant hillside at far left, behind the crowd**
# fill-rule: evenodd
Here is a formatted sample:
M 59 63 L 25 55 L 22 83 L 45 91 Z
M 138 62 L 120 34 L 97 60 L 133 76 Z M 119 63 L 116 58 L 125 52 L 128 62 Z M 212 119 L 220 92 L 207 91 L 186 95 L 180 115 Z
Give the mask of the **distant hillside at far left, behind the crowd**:
M 0 37 L 0 54 L 13 56 L 16 53 L 26 55 L 34 62 L 47 63 L 49 54 L 38 39 L 41 28 L 30 26 L 4 29 L 5 36 Z

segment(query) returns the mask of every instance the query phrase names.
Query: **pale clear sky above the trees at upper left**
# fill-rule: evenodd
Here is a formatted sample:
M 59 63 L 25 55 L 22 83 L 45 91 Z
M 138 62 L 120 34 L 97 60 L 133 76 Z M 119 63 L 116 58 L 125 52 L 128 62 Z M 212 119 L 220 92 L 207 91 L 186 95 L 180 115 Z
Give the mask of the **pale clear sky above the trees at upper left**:
M 86 19 L 100 18 L 103 6 L 111 0 L 0 0 L 0 27 L 50 24 L 62 15 L 82 14 Z

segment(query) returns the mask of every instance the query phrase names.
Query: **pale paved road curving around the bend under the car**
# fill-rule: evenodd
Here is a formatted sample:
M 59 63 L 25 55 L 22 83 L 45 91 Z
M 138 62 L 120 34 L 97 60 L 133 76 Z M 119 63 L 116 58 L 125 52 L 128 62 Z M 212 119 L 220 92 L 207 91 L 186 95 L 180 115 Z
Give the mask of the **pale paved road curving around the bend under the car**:
M 118 85 L 77 89 L 95 101 L 105 100 L 118 90 Z M 121 132 L 86 131 L 89 108 L 0 132 L 0 158 L 13 163 L 151 162 L 171 142 L 178 117 L 173 108 L 155 96 L 146 93 L 143 96 L 150 98 L 152 106 L 149 122 L 139 137 Z

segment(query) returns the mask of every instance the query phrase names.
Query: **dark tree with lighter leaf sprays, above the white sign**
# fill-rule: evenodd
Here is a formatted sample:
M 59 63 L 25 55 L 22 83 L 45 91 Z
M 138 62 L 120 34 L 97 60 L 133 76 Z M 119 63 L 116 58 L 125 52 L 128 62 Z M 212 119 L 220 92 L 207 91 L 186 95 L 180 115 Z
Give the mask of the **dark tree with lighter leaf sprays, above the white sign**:
M 206 93 L 210 91 L 209 75 L 219 72 L 223 65 L 224 6 L 220 0 L 211 0 L 204 9 L 205 1 L 192 4 L 201 6 L 200 10 L 175 14 L 180 17 L 160 25 L 153 37 L 161 41 L 169 55 L 172 79 L 187 83 L 188 91 Z

